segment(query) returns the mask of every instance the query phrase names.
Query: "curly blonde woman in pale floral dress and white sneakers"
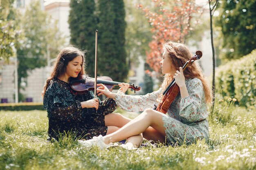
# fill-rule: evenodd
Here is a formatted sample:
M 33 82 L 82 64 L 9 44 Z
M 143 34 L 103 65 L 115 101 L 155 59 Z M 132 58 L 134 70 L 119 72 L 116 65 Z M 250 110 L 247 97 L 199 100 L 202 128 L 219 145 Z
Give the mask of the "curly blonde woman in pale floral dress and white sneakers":
M 168 42 L 164 44 L 162 61 L 162 73 L 165 74 L 161 88 L 146 95 L 132 96 L 122 92 L 112 93 L 106 86 L 100 84 L 97 89 L 99 95 L 115 99 L 117 105 L 130 112 L 143 111 L 138 117 L 128 124 L 105 137 L 94 137 L 80 143 L 85 147 L 92 145 L 108 145 L 127 137 L 143 133 L 143 137 L 166 144 L 190 144 L 199 139 L 208 139 L 209 130 L 207 122 L 207 103 L 211 103 L 211 91 L 204 79 L 201 69 L 196 63 L 190 64 L 183 71 L 182 66 L 192 55 L 184 44 Z M 162 100 L 162 92 L 175 78 L 180 88 L 167 114 L 153 110 Z M 128 85 L 122 85 L 123 89 Z M 142 140 L 142 137 L 137 140 Z M 136 143 L 139 143 L 137 141 Z

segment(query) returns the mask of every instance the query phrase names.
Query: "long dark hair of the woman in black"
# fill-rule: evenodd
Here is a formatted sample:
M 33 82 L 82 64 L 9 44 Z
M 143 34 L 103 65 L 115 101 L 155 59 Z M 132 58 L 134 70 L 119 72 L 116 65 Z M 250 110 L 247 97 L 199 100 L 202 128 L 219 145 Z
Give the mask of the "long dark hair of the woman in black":
M 67 64 L 72 61 L 75 57 L 81 56 L 83 58 L 83 66 L 80 71 L 81 74 L 85 74 L 85 52 L 81 51 L 80 49 L 76 48 L 75 46 L 68 46 L 62 49 L 57 57 L 56 62 L 53 66 L 52 73 L 50 74 L 50 77 L 46 80 L 46 84 L 43 87 L 42 91 L 42 97 L 45 95 L 45 91 L 47 90 L 49 83 L 52 79 L 58 78 L 59 76 L 63 75 L 67 69 Z

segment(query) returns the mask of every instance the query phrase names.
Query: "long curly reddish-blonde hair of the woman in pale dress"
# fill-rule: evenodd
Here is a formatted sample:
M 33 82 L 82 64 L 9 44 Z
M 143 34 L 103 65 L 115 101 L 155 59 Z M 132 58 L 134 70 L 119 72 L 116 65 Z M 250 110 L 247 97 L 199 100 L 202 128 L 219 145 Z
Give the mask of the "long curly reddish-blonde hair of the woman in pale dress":
M 184 44 L 180 43 L 167 42 L 163 45 L 163 50 L 165 53 L 167 53 L 166 56 L 169 57 L 176 70 L 179 70 L 179 68 L 182 67 L 193 56 L 191 55 L 189 49 Z M 198 64 L 196 62 L 189 64 L 183 73 L 185 78 L 198 78 L 201 80 L 203 84 L 205 100 L 207 103 L 211 103 L 212 93 L 206 79 L 204 78 L 202 69 L 198 66 Z M 171 83 L 172 79 L 173 76 L 171 74 L 168 73 L 164 75 L 164 81 L 161 85 L 162 92 L 164 92 L 168 84 Z M 163 95 L 160 95 L 158 101 L 161 100 L 162 97 Z

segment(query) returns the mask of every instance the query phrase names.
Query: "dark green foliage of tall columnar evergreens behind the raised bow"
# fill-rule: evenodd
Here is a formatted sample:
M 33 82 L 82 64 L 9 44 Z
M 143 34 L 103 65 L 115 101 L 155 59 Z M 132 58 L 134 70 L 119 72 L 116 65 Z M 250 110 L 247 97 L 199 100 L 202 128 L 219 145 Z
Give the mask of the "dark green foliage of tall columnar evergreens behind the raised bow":
M 98 75 L 123 82 L 128 74 L 125 50 L 126 22 L 123 0 L 70 2 L 71 44 L 88 50 L 86 71 L 94 75 L 95 30 L 98 37 Z M 97 8 L 96 8 L 97 7 Z

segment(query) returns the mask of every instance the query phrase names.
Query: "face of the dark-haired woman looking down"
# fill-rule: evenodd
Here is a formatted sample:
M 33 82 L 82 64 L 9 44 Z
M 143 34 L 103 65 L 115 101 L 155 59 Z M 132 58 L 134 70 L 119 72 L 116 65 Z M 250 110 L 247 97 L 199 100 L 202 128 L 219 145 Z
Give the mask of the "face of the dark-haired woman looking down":
M 77 77 L 83 66 L 83 57 L 77 56 L 67 64 L 65 74 L 68 77 Z

